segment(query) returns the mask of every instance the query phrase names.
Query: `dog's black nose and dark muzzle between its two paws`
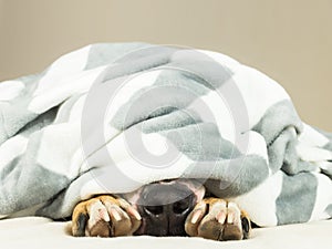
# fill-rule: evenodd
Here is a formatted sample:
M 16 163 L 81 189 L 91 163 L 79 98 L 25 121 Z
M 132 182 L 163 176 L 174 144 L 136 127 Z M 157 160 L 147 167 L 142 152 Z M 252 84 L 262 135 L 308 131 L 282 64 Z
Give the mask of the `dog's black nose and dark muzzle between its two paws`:
M 147 185 L 138 211 L 143 225 L 137 235 L 185 236 L 185 220 L 196 204 L 191 189 L 179 183 Z

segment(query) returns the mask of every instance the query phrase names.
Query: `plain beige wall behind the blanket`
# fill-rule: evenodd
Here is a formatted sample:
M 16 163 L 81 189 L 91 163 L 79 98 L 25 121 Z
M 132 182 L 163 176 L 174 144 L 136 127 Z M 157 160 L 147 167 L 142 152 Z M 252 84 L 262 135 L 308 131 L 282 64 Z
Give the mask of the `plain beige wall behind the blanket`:
M 332 132 L 332 0 L 0 0 L 0 81 L 114 41 L 229 54 L 279 81 L 305 122 Z

